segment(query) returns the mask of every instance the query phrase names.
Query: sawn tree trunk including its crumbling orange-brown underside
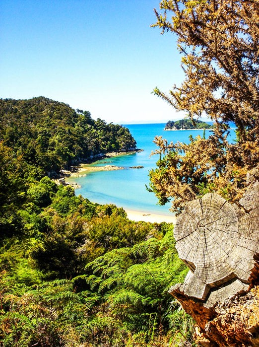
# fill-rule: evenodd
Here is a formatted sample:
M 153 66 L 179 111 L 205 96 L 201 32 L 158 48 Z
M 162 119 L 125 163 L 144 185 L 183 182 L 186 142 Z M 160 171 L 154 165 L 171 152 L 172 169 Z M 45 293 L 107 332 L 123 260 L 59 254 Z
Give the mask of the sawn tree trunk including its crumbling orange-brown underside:
M 198 325 L 204 347 L 259 347 L 259 181 L 231 205 L 217 194 L 187 204 L 174 229 L 190 271 L 170 293 Z

